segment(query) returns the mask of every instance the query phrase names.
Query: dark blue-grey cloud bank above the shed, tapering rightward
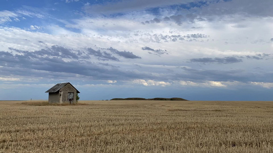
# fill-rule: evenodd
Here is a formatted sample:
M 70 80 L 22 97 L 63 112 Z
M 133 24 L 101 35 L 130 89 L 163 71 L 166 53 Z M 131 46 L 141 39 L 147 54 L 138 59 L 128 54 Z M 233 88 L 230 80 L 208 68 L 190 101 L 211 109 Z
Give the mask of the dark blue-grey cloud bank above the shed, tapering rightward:
M 139 77 L 149 78 L 150 76 L 148 73 L 127 72 L 127 70 L 120 69 L 119 66 L 105 62 L 93 62 L 93 57 L 99 61 L 119 60 L 110 53 L 92 48 L 79 51 L 53 45 L 34 52 L 14 48 L 10 48 L 10 50 L 12 52 L 0 52 L 0 73 L 2 75 L 54 77 L 54 79 L 73 78 L 76 75 L 82 75 L 96 80 L 136 79 Z M 119 52 L 113 48 L 112 51 L 126 58 L 140 58 L 134 57 L 130 52 Z

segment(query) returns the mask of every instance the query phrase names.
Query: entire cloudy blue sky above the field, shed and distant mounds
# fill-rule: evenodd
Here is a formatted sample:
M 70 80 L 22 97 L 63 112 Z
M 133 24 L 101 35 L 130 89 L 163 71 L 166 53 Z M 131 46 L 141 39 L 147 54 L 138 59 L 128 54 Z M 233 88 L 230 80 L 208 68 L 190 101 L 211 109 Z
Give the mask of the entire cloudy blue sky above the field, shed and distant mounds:
M 1 0 L 0 100 L 273 100 L 272 0 Z

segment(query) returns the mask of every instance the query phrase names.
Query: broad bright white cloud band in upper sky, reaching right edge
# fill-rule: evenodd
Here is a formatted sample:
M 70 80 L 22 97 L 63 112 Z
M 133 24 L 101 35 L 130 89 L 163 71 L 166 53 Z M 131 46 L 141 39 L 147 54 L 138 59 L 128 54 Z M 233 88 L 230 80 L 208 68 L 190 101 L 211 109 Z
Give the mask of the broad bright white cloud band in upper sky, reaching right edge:
M 67 23 L 66 27 L 79 29 L 82 34 L 91 37 L 130 43 L 130 45 L 135 43 L 135 46 L 146 46 L 147 43 L 149 43 L 149 47 L 152 48 L 164 46 L 164 48 L 161 49 L 170 50 L 173 55 L 176 55 L 175 57 L 184 57 L 185 59 L 198 57 L 255 56 L 256 54 L 269 53 L 271 49 L 269 45 L 264 45 L 264 43 L 265 40 L 270 40 L 272 36 L 269 25 L 273 22 L 273 18 L 244 17 L 243 20 L 234 22 L 234 18 L 227 17 L 226 20 L 186 22 L 183 23 L 183 27 L 178 27 L 175 24 L 164 22 L 143 25 L 140 23 L 140 18 L 146 16 L 153 18 L 153 16 L 141 13 L 134 15 L 131 14 L 131 16 L 128 15 L 128 17 L 125 15 L 115 18 L 84 17 L 75 19 L 74 24 Z M 138 17 L 136 18 L 136 16 Z M 134 18 L 134 20 L 132 20 L 132 18 Z M 246 24 L 248 27 L 233 28 L 235 24 L 241 23 Z M 200 26 L 203 28 L 192 29 L 192 27 Z M 257 33 L 261 35 L 257 35 Z M 208 37 L 198 39 L 186 38 L 186 40 L 171 38 L 191 34 L 203 34 Z M 254 44 L 253 42 L 257 43 Z M 180 45 L 181 43 L 183 43 L 183 45 Z M 178 45 L 180 45 L 180 47 L 177 47 Z

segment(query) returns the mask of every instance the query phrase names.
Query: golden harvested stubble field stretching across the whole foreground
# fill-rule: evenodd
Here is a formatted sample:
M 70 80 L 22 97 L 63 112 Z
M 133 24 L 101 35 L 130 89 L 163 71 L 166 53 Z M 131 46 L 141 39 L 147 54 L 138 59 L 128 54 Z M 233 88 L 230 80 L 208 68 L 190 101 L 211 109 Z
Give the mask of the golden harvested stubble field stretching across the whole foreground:
M 0 152 L 273 152 L 272 101 L 22 102 L 0 101 Z

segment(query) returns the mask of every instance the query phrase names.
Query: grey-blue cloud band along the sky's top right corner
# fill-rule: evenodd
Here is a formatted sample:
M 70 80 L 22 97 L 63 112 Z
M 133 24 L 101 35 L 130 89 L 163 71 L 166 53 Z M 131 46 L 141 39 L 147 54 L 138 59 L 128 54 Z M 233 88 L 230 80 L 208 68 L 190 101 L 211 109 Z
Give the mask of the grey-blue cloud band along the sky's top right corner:
M 141 22 L 142 24 L 159 23 L 159 22 L 175 22 L 177 25 L 182 25 L 183 22 L 196 21 L 213 21 L 221 20 L 221 16 L 241 15 L 245 17 L 260 16 L 272 17 L 273 1 L 264 0 L 225 0 L 225 1 L 195 1 L 184 2 L 185 4 L 173 4 L 172 9 L 167 9 L 162 6 L 162 10 L 172 11 L 175 15 L 155 18 Z M 186 11 L 190 10 L 190 11 Z M 194 13 L 188 13 L 194 12 Z M 163 16 L 163 14 L 161 14 Z M 218 18 L 219 17 L 219 18 Z M 246 25 L 235 25 L 237 28 L 245 27 Z

